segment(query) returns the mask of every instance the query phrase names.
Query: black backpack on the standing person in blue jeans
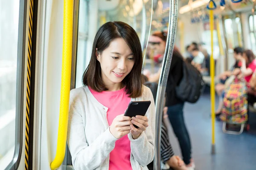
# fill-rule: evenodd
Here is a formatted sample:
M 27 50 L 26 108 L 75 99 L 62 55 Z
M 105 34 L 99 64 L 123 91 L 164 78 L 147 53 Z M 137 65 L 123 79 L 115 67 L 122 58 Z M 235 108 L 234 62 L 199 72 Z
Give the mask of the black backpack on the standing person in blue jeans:
M 202 94 L 204 84 L 201 73 L 192 64 L 183 62 L 183 77 L 175 87 L 175 95 L 184 102 L 195 103 Z

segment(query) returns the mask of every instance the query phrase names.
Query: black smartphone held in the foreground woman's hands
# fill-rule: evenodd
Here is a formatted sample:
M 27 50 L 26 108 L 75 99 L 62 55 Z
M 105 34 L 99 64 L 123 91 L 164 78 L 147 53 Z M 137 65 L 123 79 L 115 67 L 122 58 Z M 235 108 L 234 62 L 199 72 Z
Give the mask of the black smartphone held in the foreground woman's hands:
M 133 101 L 128 105 L 124 116 L 135 117 L 137 115 L 145 116 L 151 101 Z M 138 128 L 136 125 L 134 127 Z

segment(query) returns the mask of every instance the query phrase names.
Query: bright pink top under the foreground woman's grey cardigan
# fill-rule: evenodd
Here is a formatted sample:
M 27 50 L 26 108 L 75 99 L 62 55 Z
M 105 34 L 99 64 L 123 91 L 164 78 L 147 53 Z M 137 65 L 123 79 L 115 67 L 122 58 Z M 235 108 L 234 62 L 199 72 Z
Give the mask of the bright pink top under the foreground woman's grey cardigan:
M 102 91 L 100 93 L 89 89 L 93 96 L 108 108 L 107 119 L 109 125 L 112 124 L 116 116 L 125 113 L 131 101 L 129 95 L 126 94 L 125 87 L 119 91 Z M 116 141 L 115 148 L 110 153 L 109 170 L 132 170 L 130 157 L 131 143 L 128 135 L 125 135 Z

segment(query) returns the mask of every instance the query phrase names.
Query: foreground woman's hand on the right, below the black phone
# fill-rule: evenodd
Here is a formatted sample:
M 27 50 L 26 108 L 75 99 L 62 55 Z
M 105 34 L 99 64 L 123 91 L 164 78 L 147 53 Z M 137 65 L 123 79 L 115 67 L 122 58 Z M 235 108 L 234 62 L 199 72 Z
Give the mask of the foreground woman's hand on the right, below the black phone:
M 137 115 L 131 118 L 131 123 L 138 127 L 136 128 L 134 125 L 130 125 L 132 137 L 133 139 L 137 139 L 140 137 L 140 134 L 146 130 L 146 127 L 148 127 L 148 118 L 146 116 Z

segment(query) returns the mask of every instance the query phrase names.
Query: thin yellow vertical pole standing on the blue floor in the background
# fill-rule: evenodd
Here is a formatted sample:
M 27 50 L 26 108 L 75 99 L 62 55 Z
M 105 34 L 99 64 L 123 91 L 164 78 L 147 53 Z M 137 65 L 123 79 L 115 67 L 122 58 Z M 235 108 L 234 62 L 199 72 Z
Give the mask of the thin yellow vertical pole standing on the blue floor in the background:
M 210 2 L 209 6 L 212 8 L 213 4 Z M 214 29 L 214 15 L 213 10 L 209 11 L 210 15 L 210 29 L 211 29 L 211 57 L 210 57 L 210 76 L 211 76 L 211 109 L 212 109 L 212 154 L 215 154 L 215 63 L 213 59 L 213 29 Z

